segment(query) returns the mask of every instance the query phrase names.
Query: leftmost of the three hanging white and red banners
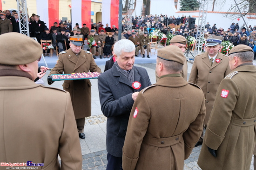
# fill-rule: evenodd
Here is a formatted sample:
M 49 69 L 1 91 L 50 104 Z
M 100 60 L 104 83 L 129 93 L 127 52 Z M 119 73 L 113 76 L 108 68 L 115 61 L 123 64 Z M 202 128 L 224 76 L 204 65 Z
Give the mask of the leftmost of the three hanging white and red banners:
M 59 24 L 59 0 L 36 0 L 37 15 L 50 29 L 54 22 Z

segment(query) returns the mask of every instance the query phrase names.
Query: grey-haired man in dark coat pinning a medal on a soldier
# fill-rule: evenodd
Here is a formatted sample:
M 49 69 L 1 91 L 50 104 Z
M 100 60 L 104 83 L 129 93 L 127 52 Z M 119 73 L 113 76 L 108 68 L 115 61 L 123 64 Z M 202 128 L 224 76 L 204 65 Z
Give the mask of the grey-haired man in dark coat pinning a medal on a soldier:
M 131 50 L 132 49 L 132 50 Z M 101 111 L 107 121 L 107 170 L 120 170 L 129 115 L 141 89 L 151 85 L 146 69 L 135 67 L 135 45 L 128 39 L 114 45 L 116 62 L 98 77 Z

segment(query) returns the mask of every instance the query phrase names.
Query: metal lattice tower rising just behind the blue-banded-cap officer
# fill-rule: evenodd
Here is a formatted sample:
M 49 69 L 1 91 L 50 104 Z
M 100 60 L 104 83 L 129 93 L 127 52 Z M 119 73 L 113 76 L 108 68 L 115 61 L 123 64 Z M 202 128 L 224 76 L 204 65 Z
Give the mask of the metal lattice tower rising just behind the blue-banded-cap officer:
M 195 50 L 194 50 L 195 56 L 202 53 L 207 10 L 208 10 L 208 0 L 201 0 L 200 7 L 199 7 L 198 25 L 197 25 L 198 28 L 196 32 L 196 42 L 195 42 L 196 44 L 195 44 Z

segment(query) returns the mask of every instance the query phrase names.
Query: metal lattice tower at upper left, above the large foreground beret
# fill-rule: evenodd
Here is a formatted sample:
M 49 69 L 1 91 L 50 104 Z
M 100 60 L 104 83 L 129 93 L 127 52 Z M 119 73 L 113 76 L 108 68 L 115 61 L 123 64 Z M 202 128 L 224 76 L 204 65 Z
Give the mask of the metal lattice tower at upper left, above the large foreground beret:
M 18 7 L 18 16 L 20 16 L 20 33 L 27 35 L 29 37 L 29 27 L 27 20 L 27 1 L 26 0 L 17 0 Z

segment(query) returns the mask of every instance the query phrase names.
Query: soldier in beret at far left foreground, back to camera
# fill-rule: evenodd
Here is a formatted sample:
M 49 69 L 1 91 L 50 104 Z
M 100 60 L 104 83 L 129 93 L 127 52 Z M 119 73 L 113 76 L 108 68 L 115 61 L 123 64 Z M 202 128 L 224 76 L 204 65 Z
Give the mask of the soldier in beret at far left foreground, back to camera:
M 0 35 L 0 160 L 44 166 L 33 169 L 81 170 L 70 94 L 34 83 L 41 45 L 17 32 Z M 15 42 L 15 50 L 9 47 Z M 61 157 L 61 167 L 58 160 Z

